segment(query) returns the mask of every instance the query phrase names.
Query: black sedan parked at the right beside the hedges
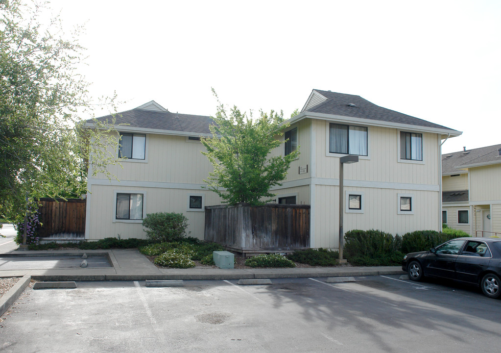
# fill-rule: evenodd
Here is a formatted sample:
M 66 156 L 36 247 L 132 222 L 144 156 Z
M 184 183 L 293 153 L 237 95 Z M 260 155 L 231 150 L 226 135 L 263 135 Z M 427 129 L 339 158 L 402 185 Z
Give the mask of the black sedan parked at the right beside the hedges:
M 413 281 L 441 277 L 480 286 L 489 298 L 501 295 L 501 238 L 456 238 L 405 255 L 402 270 Z

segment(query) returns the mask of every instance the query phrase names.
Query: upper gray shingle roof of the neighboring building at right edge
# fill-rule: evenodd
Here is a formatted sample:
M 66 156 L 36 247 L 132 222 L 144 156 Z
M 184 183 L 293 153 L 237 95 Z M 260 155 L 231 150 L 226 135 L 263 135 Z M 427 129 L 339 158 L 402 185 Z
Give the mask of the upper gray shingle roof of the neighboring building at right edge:
M 498 157 L 497 151 L 499 148 L 501 148 L 501 144 L 444 153 L 442 154 L 442 174 L 459 173 L 460 170 L 456 167 L 462 165 L 488 162 L 501 163 L 501 157 Z

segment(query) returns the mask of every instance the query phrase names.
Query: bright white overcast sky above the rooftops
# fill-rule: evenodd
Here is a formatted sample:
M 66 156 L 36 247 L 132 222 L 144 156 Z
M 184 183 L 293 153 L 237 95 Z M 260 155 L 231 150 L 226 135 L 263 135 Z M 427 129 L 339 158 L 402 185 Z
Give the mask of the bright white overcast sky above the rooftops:
M 80 36 L 94 97 L 213 115 L 360 95 L 455 130 L 442 152 L 501 143 L 501 1 L 52 0 Z M 104 115 L 104 114 L 103 114 Z

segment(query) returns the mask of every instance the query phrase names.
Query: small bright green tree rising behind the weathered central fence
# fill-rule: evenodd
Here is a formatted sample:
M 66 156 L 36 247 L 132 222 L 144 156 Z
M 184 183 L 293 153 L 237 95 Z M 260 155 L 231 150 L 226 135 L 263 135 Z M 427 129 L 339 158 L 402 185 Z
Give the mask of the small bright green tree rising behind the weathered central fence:
M 217 98 L 214 90 L 212 92 Z M 283 143 L 277 137 L 289 126 L 284 123 L 282 112 L 260 111 L 260 117 L 253 120 L 252 113 L 247 117 L 236 106 L 228 114 L 218 100 L 212 119 L 213 137 L 201 139 L 207 148 L 207 152 L 202 153 L 214 167 L 204 180 L 207 189 L 231 205 L 261 205 L 271 201 L 275 195 L 270 189 L 281 185 L 290 163 L 299 155 L 299 148 L 286 156 L 271 155 L 272 150 Z

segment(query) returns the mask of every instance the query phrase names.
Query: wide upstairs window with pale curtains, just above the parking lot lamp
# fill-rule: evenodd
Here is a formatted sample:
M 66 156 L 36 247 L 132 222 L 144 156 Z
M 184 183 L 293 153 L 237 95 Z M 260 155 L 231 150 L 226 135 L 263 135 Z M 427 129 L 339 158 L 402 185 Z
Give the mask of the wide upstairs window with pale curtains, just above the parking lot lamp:
M 330 123 L 329 152 L 367 155 L 367 127 Z

